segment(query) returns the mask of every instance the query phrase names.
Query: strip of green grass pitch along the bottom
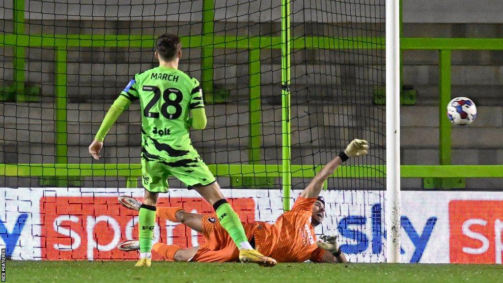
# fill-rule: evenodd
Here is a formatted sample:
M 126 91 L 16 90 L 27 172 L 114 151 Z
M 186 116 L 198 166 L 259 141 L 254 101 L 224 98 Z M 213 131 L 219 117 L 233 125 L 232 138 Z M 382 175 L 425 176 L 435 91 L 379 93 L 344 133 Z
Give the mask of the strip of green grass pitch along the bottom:
M 501 282 L 503 267 L 488 264 L 282 263 L 273 268 L 240 263 L 132 261 L 8 261 L 7 282 Z

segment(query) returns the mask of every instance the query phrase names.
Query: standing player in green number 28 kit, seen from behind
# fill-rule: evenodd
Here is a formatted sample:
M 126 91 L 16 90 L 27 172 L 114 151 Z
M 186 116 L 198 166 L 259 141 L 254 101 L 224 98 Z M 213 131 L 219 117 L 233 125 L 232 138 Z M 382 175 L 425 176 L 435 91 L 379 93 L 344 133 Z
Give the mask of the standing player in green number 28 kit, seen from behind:
M 182 56 L 180 38 L 173 34 L 159 36 L 154 54 L 159 66 L 134 76 L 110 107 L 89 146 L 89 153 L 99 159 L 107 132 L 131 102 L 140 100 L 145 194 L 139 211 L 140 259 L 136 266 L 151 264 L 155 205 L 158 194 L 167 192 L 167 177 L 170 175 L 194 188 L 213 205 L 220 224 L 239 248 L 241 262 L 274 266 L 274 259 L 260 254 L 250 245 L 239 217 L 225 200 L 208 166 L 192 147 L 189 129 L 204 129 L 206 113 L 199 82 L 178 69 Z

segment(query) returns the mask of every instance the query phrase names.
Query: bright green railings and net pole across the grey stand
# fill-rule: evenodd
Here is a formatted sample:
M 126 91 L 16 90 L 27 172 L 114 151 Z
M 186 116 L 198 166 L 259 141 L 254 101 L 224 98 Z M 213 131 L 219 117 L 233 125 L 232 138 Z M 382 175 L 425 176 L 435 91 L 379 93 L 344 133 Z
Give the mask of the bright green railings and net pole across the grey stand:
M 329 38 L 298 37 L 289 40 L 289 0 L 283 0 L 281 37 L 239 37 L 214 35 L 213 0 L 203 1 L 203 32 L 198 36 L 182 37 L 184 47 L 201 48 L 201 82 L 206 92 L 213 91 L 213 50 L 216 48 L 246 49 L 249 56 L 249 115 L 250 115 L 250 151 L 249 165 L 213 164 L 209 165 L 213 174 L 218 176 L 279 177 L 285 185 L 284 196 L 289 196 L 290 179 L 295 177 L 313 177 L 320 169 L 315 165 L 290 165 L 290 99 L 288 84 L 290 81 L 289 54 L 292 49 L 365 49 L 384 48 L 384 38 Z M 55 50 L 55 140 L 56 164 L 0 164 L 0 175 L 18 177 L 91 177 L 121 176 L 126 179 L 127 187 L 136 187 L 141 176 L 139 164 L 67 164 L 67 123 L 66 123 L 66 61 L 68 47 L 143 47 L 151 48 L 153 36 L 146 35 L 53 35 L 25 34 L 24 1 L 14 0 L 13 33 L 0 34 L 0 46 L 15 50 L 14 81 L 16 93 L 23 94 L 25 82 L 25 48 L 47 47 Z M 262 145 L 261 128 L 261 49 L 281 49 L 283 53 L 282 90 L 283 107 L 283 159 L 282 164 L 260 165 Z M 451 125 L 444 117 L 444 109 L 451 99 L 451 50 L 503 50 L 503 39 L 465 39 L 465 38 L 402 38 L 401 49 L 438 50 L 440 56 L 440 164 L 438 166 L 402 165 L 403 178 L 490 178 L 503 177 L 503 166 L 453 166 L 451 164 Z M 361 178 L 385 177 L 385 166 L 341 166 L 333 177 Z M 287 198 L 289 199 L 289 198 Z M 289 203 L 285 202 L 285 207 Z

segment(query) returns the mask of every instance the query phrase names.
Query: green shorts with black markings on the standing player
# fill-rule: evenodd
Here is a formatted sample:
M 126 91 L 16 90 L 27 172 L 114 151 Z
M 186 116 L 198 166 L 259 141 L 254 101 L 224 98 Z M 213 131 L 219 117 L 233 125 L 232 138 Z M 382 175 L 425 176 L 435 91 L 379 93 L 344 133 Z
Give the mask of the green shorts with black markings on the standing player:
M 143 187 L 151 192 L 167 192 L 167 178 L 174 176 L 187 186 L 213 184 L 216 179 L 196 151 L 170 160 L 141 159 Z

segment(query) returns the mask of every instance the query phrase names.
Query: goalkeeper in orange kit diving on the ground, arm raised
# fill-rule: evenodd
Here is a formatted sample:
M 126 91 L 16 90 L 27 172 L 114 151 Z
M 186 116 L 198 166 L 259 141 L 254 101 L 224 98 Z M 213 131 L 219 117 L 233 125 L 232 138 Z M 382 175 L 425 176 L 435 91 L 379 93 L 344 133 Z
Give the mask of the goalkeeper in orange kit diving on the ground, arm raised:
M 292 210 L 286 211 L 274 224 L 256 221 L 243 223 L 250 244 L 266 256 L 278 262 L 347 262 L 336 237 L 322 237 L 317 241 L 314 228 L 325 216 L 325 201 L 319 196 L 323 182 L 349 157 L 367 154 L 369 146 L 365 140 L 354 139 L 344 152 L 326 164 L 295 201 Z M 128 196 L 120 196 L 124 206 L 138 210 L 141 203 Z M 158 207 L 157 217 L 180 222 L 204 234 L 206 244 L 182 249 L 177 245 L 155 243 L 153 250 L 175 261 L 227 262 L 238 261 L 239 250 L 229 234 L 220 226 L 213 215 L 188 213 L 181 207 Z M 138 250 L 138 241 L 120 243 L 123 251 Z

